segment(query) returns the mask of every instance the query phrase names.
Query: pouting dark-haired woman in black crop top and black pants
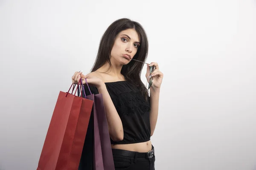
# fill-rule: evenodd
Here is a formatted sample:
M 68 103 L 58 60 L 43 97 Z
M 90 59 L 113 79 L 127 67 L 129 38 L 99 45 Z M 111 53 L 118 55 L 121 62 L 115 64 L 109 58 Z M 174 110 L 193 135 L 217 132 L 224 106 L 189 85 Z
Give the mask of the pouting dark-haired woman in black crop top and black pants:
M 76 72 L 72 77 L 73 83 L 81 78 L 85 84 L 87 79 L 91 92 L 103 96 L 116 170 L 154 170 L 150 137 L 157 123 L 163 73 L 156 62 L 147 64 L 148 82 L 151 77 L 154 79 L 149 96 L 140 79 L 147 54 L 143 27 L 129 19 L 119 19 L 102 36 L 92 71 L 87 75 Z M 150 66 L 155 69 L 149 76 Z

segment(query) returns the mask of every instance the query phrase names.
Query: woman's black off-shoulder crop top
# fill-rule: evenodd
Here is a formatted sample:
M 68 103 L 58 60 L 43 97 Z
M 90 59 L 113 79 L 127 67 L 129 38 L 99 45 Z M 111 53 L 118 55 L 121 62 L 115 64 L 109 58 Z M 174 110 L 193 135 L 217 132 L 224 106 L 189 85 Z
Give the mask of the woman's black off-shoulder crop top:
M 131 144 L 150 140 L 150 97 L 145 100 L 140 89 L 128 81 L 106 82 L 108 93 L 122 121 L 124 138 L 111 144 Z M 92 94 L 99 94 L 96 87 L 89 85 Z M 90 95 L 87 85 L 84 85 L 86 95 Z

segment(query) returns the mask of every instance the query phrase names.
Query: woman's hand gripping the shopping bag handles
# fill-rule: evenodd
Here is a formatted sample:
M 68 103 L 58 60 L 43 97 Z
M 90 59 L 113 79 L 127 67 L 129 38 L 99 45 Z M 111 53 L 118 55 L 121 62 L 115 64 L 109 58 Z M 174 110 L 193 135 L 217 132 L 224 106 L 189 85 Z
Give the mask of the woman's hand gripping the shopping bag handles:
M 104 82 L 102 79 L 97 77 L 95 73 L 89 73 L 87 75 L 82 74 L 82 72 L 76 71 L 75 74 L 72 77 L 72 83 L 78 84 L 78 82 L 82 79 L 83 84 L 86 83 L 85 79 L 87 80 L 87 83 L 89 85 L 94 85 L 96 88 L 99 88 L 100 86 L 104 85 Z

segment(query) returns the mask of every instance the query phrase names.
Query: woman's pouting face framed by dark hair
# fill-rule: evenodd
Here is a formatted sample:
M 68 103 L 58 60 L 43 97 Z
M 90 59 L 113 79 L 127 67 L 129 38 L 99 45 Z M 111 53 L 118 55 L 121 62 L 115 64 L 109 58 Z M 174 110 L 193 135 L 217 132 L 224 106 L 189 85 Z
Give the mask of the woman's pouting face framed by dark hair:
M 121 31 L 114 42 L 111 50 L 111 63 L 120 65 L 128 64 L 137 53 L 140 46 L 140 36 L 135 29 Z

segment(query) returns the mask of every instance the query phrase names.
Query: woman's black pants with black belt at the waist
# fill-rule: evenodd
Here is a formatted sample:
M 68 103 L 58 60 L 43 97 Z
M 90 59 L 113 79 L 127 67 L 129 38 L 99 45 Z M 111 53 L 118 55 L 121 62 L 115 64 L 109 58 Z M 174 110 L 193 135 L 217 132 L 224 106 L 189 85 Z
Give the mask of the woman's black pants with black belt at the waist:
M 115 170 L 155 170 L 154 147 L 147 153 L 112 149 Z

